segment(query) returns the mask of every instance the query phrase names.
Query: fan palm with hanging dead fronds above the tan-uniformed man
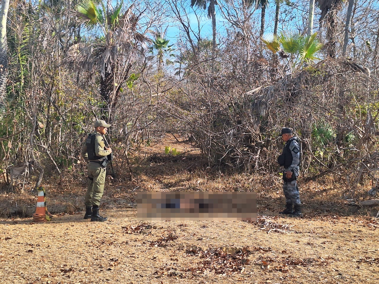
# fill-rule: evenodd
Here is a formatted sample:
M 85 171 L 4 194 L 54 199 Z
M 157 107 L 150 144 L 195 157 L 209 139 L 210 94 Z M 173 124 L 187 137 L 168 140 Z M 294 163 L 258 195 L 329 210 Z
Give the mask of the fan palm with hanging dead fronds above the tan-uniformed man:
M 69 63 L 88 72 L 91 81 L 100 75 L 100 95 L 105 102 L 102 117 L 108 120 L 122 84 L 129 78 L 129 70 L 142 59 L 149 42 L 144 34 L 138 33 L 138 17 L 132 8 L 133 5 L 124 11 L 123 2 L 105 8 L 104 3 L 97 6 L 93 0 L 83 0 L 75 7 L 77 22 L 93 30 L 100 28 L 101 34 L 86 46 L 74 45 Z

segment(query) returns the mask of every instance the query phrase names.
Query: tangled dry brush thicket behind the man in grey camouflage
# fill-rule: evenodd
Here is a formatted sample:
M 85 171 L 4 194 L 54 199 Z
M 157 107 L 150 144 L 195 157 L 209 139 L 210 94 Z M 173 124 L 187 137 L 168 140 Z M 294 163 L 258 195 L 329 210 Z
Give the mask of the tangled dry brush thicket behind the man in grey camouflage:
M 269 80 L 272 68 L 259 59 L 225 58 L 210 78 L 180 84 L 165 103 L 177 122 L 171 130 L 187 133 L 211 165 L 264 175 L 279 170 L 280 129 L 291 127 L 308 178 L 334 173 L 353 187 L 364 176 L 376 182 L 377 78 L 354 62 L 329 59 Z

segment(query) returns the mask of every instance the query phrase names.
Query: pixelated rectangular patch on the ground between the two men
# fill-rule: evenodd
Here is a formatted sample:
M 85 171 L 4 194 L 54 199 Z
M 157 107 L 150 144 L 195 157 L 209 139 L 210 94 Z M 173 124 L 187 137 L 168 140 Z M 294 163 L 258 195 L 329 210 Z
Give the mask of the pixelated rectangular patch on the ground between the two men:
M 138 220 L 238 220 L 257 218 L 254 192 L 138 192 Z

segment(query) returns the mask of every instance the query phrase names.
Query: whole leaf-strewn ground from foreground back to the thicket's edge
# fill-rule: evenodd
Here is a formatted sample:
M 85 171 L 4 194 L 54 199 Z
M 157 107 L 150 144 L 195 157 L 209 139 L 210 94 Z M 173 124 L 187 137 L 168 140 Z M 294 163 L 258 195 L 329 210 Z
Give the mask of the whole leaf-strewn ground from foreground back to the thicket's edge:
M 169 141 L 184 150 L 175 143 Z M 304 217 L 277 217 L 284 202 L 277 176 L 211 172 L 197 160 L 158 161 L 164 144 L 144 151 L 157 155 L 139 164 L 137 178 L 107 181 L 104 223 L 83 220 L 86 186 L 74 175 L 45 179 L 54 216 L 42 224 L 32 222 L 30 189 L 2 189 L 2 283 L 379 283 L 377 209 L 347 205 L 343 186 L 300 180 Z M 255 191 L 259 215 L 256 222 L 138 222 L 139 190 Z

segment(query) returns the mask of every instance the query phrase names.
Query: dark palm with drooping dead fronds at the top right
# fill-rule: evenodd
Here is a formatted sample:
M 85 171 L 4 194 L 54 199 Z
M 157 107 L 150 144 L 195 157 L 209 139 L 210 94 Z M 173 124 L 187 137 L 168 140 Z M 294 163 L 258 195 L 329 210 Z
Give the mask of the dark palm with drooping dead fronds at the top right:
M 336 56 L 337 40 L 335 38 L 337 29 L 337 13 L 341 9 L 344 0 L 315 0 L 321 10 L 320 23 L 326 23 L 326 47 L 331 58 Z

